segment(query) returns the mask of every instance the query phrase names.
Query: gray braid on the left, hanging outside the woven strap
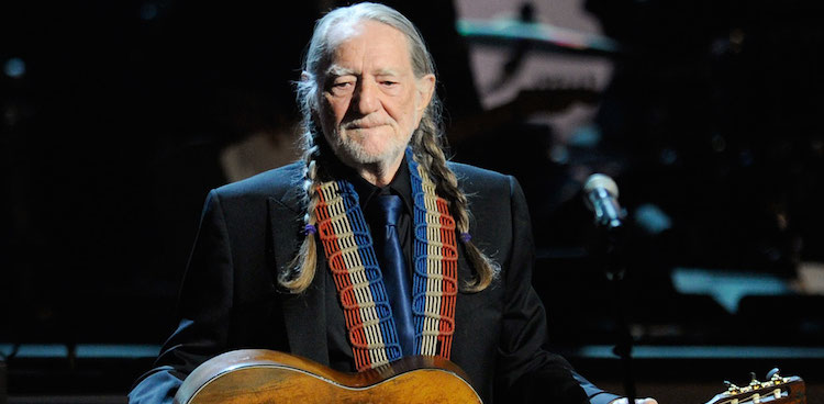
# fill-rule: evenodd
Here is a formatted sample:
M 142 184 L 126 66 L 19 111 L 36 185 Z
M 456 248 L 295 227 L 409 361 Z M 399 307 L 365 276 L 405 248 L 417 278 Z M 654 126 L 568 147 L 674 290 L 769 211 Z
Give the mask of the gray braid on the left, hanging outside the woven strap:
M 313 145 L 312 135 L 303 135 L 305 145 L 303 147 L 303 160 L 307 168 L 303 175 L 303 204 L 307 206 L 307 213 L 303 215 L 303 223 L 309 226 L 315 226 L 315 206 L 318 206 L 318 186 L 320 183 L 316 165 L 318 146 Z M 278 282 L 292 293 L 305 291 L 314 279 L 315 266 L 318 262 L 318 248 L 315 246 L 314 232 L 305 232 L 303 243 L 300 245 L 298 255 L 289 263 L 287 270 L 278 274 Z

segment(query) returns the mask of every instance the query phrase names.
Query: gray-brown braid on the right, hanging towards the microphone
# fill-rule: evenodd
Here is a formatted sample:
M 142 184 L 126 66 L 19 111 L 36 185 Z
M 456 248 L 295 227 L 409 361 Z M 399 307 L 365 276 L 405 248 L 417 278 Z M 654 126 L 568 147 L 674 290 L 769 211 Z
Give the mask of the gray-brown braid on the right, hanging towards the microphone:
M 458 186 L 458 179 L 455 177 L 449 167 L 446 166 L 446 156 L 443 150 L 443 141 L 438 133 L 437 125 L 430 117 L 424 115 L 421 120 L 417 133 L 413 137 L 413 148 L 416 148 L 415 160 L 423 165 L 424 168 L 433 175 L 436 182 L 436 192 L 447 201 L 450 201 L 449 209 L 455 218 L 455 226 L 461 234 L 469 233 L 469 202 L 466 194 Z M 465 239 L 467 258 L 472 268 L 476 269 L 477 277 L 466 282 L 467 292 L 480 292 L 492 283 L 499 272 L 500 266 L 487 257 L 471 240 Z

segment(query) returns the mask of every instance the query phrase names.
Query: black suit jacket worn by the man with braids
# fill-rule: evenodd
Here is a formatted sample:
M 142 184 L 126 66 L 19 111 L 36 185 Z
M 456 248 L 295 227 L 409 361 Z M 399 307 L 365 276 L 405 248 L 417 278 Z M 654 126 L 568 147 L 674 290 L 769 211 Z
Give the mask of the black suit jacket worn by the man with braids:
M 580 386 L 592 402 L 614 399 L 543 349 L 546 315 L 531 284 L 532 228 L 516 180 L 460 164 L 450 168 L 469 198 L 472 242 L 501 265 L 491 287 L 458 294 L 450 359 L 486 403 L 515 395 L 581 402 Z M 303 294 L 283 293 L 276 281 L 299 247 L 300 175 L 293 164 L 209 193 L 180 292 L 179 326 L 130 402 L 170 402 L 194 367 L 233 349 L 267 348 L 330 363 L 326 329 L 342 314 L 323 251 Z M 458 279 L 470 279 L 463 245 L 458 248 Z

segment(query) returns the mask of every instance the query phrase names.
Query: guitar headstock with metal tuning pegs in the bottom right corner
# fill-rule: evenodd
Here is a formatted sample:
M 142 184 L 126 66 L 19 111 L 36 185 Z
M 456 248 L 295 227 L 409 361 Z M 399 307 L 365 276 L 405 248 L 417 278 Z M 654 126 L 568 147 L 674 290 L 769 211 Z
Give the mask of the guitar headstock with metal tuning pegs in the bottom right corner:
M 743 386 L 725 381 L 726 391 L 706 404 L 806 404 L 804 381 L 797 375 L 786 378 L 772 369 L 766 381 L 756 380 L 755 373 L 750 378 L 749 384 Z

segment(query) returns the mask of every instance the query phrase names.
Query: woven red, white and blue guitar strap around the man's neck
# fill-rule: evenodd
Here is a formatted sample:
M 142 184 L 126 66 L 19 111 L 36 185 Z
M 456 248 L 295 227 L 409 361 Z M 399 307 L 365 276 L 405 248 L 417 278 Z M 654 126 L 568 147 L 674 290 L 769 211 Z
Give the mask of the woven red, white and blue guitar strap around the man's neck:
M 409 148 L 407 161 L 414 200 L 413 352 L 448 359 L 458 290 L 455 220 Z M 318 235 L 344 310 L 355 364 L 358 371 L 387 364 L 401 357 L 401 347 L 358 195 L 345 180 L 324 182 L 318 191 Z

